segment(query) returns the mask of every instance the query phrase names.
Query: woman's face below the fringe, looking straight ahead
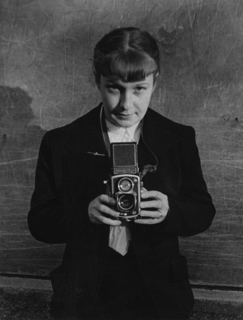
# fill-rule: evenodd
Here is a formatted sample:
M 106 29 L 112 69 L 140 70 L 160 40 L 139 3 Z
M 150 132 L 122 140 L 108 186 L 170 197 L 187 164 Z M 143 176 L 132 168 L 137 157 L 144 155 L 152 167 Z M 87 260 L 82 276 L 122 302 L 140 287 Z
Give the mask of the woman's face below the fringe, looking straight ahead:
M 155 89 L 154 75 L 137 82 L 101 76 L 97 87 L 101 92 L 106 120 L 116 126 L 130 127 L 144 117 L 149 107 Z

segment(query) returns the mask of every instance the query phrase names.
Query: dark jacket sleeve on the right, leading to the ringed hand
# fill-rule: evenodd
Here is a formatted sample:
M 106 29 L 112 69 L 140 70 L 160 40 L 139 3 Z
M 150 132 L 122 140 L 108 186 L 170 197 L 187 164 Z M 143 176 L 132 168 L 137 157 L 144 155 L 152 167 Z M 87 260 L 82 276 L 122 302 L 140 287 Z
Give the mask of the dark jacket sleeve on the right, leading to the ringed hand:
M 182 186 L 177 197 L 168 196 L 170 211 L 164 223 L 164 232 L 191 236 L 206 231 L 212 223 L 215 208 L 203 178 L 195 131 L 186 127 L 180 148 Z

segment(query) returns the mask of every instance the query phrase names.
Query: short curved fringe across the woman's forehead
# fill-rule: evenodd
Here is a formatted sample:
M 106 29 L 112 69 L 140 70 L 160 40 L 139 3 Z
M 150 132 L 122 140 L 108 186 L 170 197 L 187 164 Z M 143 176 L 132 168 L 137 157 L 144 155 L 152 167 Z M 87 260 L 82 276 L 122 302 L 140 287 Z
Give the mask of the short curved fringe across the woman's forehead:
M 106 56 L 100 70 L 101 74 L 120 78 L 123 82 L 144 80 L 148 75 L 158 72 L 156 62 L 147 53 L 128 49 Z

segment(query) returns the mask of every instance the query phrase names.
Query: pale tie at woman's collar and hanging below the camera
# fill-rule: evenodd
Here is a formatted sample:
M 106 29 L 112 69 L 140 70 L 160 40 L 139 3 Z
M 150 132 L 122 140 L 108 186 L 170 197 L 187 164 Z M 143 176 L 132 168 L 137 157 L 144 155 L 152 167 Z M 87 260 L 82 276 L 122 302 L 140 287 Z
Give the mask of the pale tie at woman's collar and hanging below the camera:
M 131 142 L 132 139 L 127 129 L 125 130 L 121 142 Z M 129 222 L 122 222 L 122 226 L 110 226 L 109 247 L 125 255 L 131 241 Z

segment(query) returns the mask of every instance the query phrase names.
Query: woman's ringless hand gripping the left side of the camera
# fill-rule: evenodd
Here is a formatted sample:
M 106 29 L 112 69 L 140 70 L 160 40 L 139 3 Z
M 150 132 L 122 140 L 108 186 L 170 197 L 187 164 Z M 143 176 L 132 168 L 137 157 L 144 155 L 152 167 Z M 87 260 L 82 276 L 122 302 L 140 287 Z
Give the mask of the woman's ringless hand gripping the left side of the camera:
M 97 224 L 108 224 L 110 226 L 120 226 L 121 221 L 120 220 L 113 220 L 112 218 L 117 218 L 119 216 L 119 213 L 111 208 L 109 208 L 107 205 L 114 205 L 115 200 L 111 198 L 110 196 L 101 195 L 92 200 L 89 203 L 88 206 L 88 216 L 89 220 L 92 223 Z M 109 217 L 104 216 L 104 214 L 110 215 Z

